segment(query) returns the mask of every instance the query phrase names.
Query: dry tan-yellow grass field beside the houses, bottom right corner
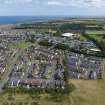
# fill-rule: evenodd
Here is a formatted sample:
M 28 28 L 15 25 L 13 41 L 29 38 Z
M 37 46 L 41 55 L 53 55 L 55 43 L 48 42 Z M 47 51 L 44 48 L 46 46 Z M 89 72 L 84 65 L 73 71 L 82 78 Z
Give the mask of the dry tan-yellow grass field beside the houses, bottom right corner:
M 105 80 L 71 80 L 76 89 L 72 97 L 73 105 L 105 105 Z

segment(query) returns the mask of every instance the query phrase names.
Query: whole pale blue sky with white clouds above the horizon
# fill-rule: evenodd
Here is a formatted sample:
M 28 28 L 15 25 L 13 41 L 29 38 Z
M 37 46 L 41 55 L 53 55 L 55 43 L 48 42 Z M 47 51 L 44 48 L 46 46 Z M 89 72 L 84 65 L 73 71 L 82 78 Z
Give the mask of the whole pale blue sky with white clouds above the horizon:
M 105 0 L 0 0 L 0 16 L 105 16 Z

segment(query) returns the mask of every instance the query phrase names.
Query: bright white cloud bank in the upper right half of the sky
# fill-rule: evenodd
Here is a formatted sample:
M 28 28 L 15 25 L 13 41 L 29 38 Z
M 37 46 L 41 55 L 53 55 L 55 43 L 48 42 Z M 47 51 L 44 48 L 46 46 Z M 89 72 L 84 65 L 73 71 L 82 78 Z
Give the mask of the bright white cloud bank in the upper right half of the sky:
M 105 0 L 49 0 L 48 5 L 103 8 L 105 7 Z

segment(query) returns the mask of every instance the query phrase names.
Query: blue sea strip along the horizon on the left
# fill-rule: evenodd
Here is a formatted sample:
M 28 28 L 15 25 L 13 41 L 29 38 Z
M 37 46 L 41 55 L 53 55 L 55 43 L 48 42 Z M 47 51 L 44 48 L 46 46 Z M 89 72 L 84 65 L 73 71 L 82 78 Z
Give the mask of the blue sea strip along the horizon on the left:
M 63 16 L 0 16 L 0 24 L 15 24 L 28 21 L 60 19 Z

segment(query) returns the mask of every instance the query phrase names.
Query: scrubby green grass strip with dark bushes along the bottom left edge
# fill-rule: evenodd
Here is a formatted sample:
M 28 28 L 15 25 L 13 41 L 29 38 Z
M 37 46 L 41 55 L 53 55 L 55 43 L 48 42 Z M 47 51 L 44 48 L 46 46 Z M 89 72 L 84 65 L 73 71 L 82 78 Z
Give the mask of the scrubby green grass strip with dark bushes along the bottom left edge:
M 33 102 L 36 104 L 32 104 Z M 72 103 L 68 96 L 65 96 L 62 102 L 57 102 L 48 94 L 30 96 L 28 94 L 5 93 L 0 95 L 0 105 L 72 105 Z

